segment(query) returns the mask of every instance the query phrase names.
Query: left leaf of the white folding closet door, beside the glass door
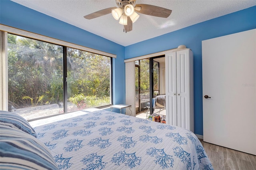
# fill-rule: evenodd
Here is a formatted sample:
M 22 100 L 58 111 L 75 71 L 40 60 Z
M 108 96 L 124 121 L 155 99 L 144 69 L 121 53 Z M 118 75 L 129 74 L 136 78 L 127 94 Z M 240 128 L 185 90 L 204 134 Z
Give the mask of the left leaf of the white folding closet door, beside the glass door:
M 166 123 L 177 126 L 176 52 L 165 55 Z

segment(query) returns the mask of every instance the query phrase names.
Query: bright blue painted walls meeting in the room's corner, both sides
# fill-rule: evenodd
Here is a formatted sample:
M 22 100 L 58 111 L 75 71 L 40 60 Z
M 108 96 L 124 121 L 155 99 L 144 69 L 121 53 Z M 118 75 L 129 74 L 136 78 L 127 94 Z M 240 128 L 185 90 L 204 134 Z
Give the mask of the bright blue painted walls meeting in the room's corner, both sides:
M 202 40 L 256 28 L 256 6 L 127 47 L 9 0 L 0 0 L 0 24 L 116 54 L 117 58 L 113 59 L 113 104 L 125 103 L 124 59 L 186 45 L 194 53 L 195 133 L 203 135 Z

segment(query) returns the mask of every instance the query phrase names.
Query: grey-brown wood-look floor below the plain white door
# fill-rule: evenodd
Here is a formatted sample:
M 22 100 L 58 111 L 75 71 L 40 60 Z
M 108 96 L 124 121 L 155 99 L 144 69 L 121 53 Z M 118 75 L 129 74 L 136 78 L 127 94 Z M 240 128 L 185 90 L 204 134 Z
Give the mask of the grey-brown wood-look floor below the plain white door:
M 200 141 L 214 170 L 256 170 L 255 155 Z

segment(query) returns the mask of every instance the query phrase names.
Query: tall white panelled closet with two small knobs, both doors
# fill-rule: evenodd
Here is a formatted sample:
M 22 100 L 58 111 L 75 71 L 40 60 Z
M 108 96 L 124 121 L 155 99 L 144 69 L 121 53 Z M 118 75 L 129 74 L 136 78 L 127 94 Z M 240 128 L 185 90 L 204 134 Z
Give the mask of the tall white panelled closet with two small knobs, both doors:
M 190 49 L 165 55 L 166 123 L 194 132 L 193 53 Z

